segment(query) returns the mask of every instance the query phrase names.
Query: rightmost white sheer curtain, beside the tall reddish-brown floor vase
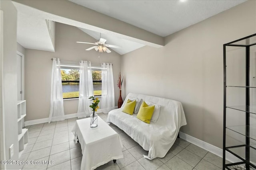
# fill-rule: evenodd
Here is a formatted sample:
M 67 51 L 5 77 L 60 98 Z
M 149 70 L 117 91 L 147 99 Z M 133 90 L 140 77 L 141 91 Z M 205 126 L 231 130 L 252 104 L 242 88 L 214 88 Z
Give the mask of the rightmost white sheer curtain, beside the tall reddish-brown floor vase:
M 101 108 L 103 113 L 108 113 L 115 108 L 112 64 L 108 63 L 102 63 Z

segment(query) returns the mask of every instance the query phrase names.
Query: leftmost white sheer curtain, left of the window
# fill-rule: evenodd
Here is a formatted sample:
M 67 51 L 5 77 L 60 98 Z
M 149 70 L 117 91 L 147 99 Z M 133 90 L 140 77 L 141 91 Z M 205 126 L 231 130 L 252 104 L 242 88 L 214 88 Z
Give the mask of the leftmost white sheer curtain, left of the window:
M 53 58 L 49 123 L 64 120 L 60 59 Z

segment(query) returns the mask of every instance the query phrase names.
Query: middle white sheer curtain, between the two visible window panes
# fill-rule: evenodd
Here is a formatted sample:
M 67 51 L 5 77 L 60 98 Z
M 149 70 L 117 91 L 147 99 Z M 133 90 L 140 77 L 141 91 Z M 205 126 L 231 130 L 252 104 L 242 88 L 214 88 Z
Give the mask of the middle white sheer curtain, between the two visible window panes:
M 88 99 L 90 96 L 93 96 L 91 63 L 80 61 L 78 118 L 89 117 L 92 113 L 92 109 L 89 107 L 91 101 Z

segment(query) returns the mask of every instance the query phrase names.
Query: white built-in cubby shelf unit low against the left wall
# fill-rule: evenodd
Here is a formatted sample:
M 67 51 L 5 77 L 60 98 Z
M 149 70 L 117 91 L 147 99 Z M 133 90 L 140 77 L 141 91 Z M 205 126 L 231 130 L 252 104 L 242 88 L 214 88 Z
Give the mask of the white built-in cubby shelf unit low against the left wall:
M 20 100 L 17 102 L 17 113 L 18 113 L 18 149 L 19 157 L 22 155 L 22 152 L 28 145 L 28 129 L 24 128 L 24 117 L 26 116 L 26 100 Z

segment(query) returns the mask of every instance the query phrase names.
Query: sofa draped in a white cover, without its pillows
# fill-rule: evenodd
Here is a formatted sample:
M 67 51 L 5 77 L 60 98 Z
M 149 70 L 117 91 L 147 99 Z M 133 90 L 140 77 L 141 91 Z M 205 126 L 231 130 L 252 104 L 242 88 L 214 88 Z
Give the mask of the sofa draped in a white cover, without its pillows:
M 136 117 L 137 114 L 129 115 L 122 112 L 126 101 L 136 98 L 160 105 L 160 114 L 156 123 L 144 123 Z M 148 155 L 144 155 L 144 158 L 150 160 L 164 157 L 174 144 L 180 127 L 187 124 L 180 102 L 134 93 L 126 96 L 121 108 L 108 113 L 107 122 L 118 126 L 144 150 L 148 150 Z

